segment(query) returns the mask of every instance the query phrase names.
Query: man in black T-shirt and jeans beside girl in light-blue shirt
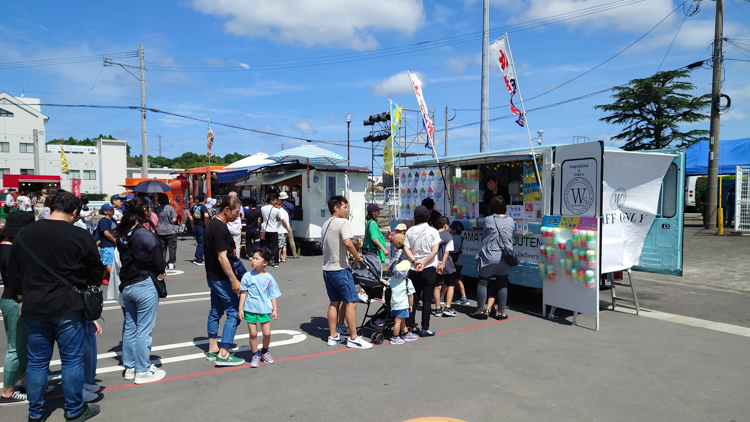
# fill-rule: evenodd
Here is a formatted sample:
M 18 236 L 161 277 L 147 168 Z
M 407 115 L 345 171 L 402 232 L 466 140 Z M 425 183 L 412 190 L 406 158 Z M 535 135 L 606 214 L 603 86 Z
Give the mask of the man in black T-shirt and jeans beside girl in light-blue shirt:
M 237 261 L 234 256 L 234 239 L 227 223 L 234 221 L 240 213 L 240 200 L 236 196 L 226 196 L 221 201 L 219 213 L 206 225 L 204 253 L 206 257 L 206 279 L 211 288 L 211 310 L 208 312 L 208 360 L 215 360 L 216 366 L 239 366 L 244 359 L 229 353 L 234 343 L 240 306 L 240 280 L 234 275 L 232 264 Z M 219 337 L 219 320 L 227 314 L 224 329 Z

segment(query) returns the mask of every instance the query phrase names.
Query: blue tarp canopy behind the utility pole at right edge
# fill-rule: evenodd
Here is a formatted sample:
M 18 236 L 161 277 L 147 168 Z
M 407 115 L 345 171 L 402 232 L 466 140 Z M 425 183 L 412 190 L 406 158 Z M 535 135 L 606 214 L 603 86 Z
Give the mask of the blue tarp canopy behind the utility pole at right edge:
M 696 142 L 687 149 L 685 174 L 708 174 L 708 141 Z M 750 166 L 750 138 L 724 139 L 719 142 L 719 174 L 734 174 L 736 166 Z

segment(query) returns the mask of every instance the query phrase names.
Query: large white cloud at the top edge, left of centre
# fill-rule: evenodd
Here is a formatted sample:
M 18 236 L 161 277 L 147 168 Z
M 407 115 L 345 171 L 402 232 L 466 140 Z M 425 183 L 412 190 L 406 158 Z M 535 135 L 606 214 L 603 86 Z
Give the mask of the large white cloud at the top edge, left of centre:
M 227 19 L 235 35 L 306 46 L 377 48 L 376 31 L 410 37 L 425 21 L 422 0 L 193 0 L 193 9 Z

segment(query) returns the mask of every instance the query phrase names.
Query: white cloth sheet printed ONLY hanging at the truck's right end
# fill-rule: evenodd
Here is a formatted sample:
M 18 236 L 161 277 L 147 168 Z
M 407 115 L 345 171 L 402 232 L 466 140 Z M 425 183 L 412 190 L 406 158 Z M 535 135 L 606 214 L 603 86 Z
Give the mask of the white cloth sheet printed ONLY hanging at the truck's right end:
M 638 264 L 674 156 L 607 151 L 602 190 L 602 273 Z

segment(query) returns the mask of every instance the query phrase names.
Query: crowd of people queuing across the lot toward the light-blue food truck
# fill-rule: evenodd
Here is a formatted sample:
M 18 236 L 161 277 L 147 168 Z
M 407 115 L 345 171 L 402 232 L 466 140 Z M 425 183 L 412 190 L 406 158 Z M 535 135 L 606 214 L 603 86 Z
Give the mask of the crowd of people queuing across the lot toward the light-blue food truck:
M 197 205 L 190 210 L 196 239 L 193 263 L 205 267 L 210 289 L 206 359 L 216 366 L 245 364 L 231 353 L 240 321 L 248 324 L 250 332 L 249 366 L 273 363 L 270 323 L 278 318 L 281 291 L 266 268 L 285 262 L 287 252 L 296 257 L 290 225 L 294 206 L 286 205 L 285 196 L 284 192 L 271 194 L 259 208 L 254 199 L 243 207 L 236 194 L 227 195 L 215 207 L 207 206 L 205 196 L 198 195 Z M 34 210 L 11 212 L 0 231 L 0 274 L 5 286 L 0 305 L 8 342 L 0 405 L 28 402 L 29 420 L 46 420 L 47 375 L 57 344 L 65 418 L 83 421 L 100 411 L 90 402 L 99 397 L 96 334 L 102 327 L 86 317 L 80 292 L 109 284 L 108 298 L 117 300 L 122 308 L 123 378 L 135 384 L 164 379 L 166 372 L 151 363 L 150 351 L 159 299 L 167 295 L 165 276 L 175 266 L 178 218 L 164 194 L 153 199 L 143 194 L 114 195 L 110 204 L 102 206 L 103 216 L 93 227 L 82 216 L 90 211 L 84 211 L 84 201 L 75 195 L 61 191 L 44 202 L 46 207 L 38 214 Z M 328 201 L 331 217 L 322 226 L 323 281 L 329 297 L 327 343 L 369 349 L 372 344 L 356 329 L 356 308 L 362 296 L 349 262 L 350 258 L 353 263 L 362 262 L 363 257 L 353 242 L 348 206 L 346 198 L 332 197 Z M 48 215 L 41 218 L 45 208 Z M 503 250 L 512 250 L 514 223 L 505 215 L 501 195 L 492 199 L 490 210 L 477 255 L 478 309 L 472 316 L 504 319 L 510 267 L 501 257 Z M 361 253 L 376 254 L 381 264 L 389 257 L 383 281 L 390 286 L 395 320 L 390 343 L 434 336 L 431 316 L 456 316 L 451 305 L 468 304 L 461 281 L 463 226 L 457 221 L 449 224 L 428 198 L 415 208 L 413 226 L 396 226 L 389 236 L 389 250 L 377 226 L 380 208 L 369 204 L 367 213 Z M 250 271 L 238 257 L 243 215 Z M 460 298 L 452 302 L 457 287 Z

